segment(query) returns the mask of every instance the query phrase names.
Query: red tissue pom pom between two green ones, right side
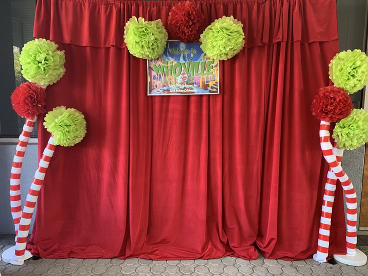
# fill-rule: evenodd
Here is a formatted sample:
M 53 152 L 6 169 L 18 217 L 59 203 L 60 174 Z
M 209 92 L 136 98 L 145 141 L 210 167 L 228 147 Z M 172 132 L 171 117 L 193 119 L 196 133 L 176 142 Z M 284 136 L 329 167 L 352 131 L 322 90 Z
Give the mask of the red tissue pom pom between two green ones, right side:
M 319 88 L 310 108 L 318 119 L 336 122 L 347 117 L 353 106 L 345 90 L 336 86 L 326 86 Z

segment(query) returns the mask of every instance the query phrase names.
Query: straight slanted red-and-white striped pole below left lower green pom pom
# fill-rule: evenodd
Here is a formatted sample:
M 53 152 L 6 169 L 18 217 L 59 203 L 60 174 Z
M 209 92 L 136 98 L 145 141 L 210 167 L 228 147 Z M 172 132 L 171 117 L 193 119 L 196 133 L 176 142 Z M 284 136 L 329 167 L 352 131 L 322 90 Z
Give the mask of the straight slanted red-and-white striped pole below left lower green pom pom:
M 23 212 L 21 213 L 15 243 L 15 253 L 12 259 L 10 260 L 10 263 L 12 264 L 23 264 L 25 246 L 27 242 L 27 236 L 29 233 L 30 220 L 32 218 L 34 206 L 37 201 L 39 190 L 41 189 L 41 184 L 43 182 L 44 175 L 48 167 L 48 163 L 51 160 L 55 147 L 56 145 L 54 144 L 53 136 L 51 135 L 51 137 L 48 139 L 45 149 L 43 150 L 42 157 L 39 160 L 37 170 L 34 173 L 34 178 L 32 184 L 30 185 L 25 200 Z

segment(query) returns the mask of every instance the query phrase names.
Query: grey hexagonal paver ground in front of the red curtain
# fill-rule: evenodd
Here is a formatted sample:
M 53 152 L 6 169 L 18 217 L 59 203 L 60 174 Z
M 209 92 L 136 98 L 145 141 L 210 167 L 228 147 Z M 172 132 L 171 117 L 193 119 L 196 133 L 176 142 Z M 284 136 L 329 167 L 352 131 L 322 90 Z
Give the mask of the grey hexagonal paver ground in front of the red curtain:
M 0 235 L 0 251 L 13 244 L 13 235 Z M 358 245 L 368 254 L 368 235 L 360 235 Z M 284 261 L 265 259 L 256 260 L 224 257 L 218 259 L 195 260 L 146 260 L 132 259 L 28 259 L 23 265 L 11 265 L 0 261 L 1 275 L 368 275 L 368 264 L 347 266 L 341 263 L 318 263 L 313 259 Z

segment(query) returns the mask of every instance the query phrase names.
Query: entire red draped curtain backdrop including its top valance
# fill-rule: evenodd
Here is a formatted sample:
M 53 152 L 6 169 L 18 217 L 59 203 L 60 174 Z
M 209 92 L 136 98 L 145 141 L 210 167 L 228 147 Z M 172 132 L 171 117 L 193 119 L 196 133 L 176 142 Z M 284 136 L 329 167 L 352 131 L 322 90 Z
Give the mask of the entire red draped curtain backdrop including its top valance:
M 316 251 L 327 165 L 309 106 L 338 51 L 335 0 L 201 0 L 246 46 L 220 63 L 220 94 L 146 96 L 132 16 L 167 24 L 176 1 L 38 0 L 34 36 L 65 50 L 47 109 L 81 110 L 87 135 L 57 147 L 28 248 L 41 257 L 304 259 Z M 49 133 L 41 127 L 39 150 Z M 344 253 L 341 190 L 331 253 Z

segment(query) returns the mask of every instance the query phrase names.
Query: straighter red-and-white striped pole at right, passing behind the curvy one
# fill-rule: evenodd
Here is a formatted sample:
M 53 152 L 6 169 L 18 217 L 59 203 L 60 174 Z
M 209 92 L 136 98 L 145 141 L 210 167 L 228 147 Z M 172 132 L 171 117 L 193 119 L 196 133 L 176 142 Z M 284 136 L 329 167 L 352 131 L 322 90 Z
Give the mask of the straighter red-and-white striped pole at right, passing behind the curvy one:
M 324 137 L 320 138 L 320 142 L 324 142 Z M 336 155 L 338 163 L 341 163 L 343 149 L 337 147 L 337 140 L 333 143 L 333 153 Z M 331 227 L 332 205 L 335 197 L 337 177 L 333 173 L 331 167 L 328 168 L 326 182 L 324 184 L 323 203 L 321 218 L 318 231 L 317 252 L 313 255 L 313 259 L 319 262 L 326 262 L 329 246 L 329 229 Z

